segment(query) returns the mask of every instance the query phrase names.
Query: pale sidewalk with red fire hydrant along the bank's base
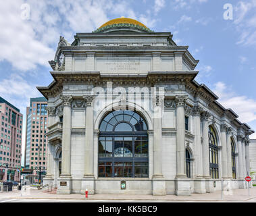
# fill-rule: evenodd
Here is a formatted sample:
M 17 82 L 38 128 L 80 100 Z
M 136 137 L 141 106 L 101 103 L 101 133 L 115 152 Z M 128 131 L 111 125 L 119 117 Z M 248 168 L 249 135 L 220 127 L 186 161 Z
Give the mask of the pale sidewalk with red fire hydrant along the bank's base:
M 191 194 L 191 196 L 176 196 L 176 195 L 166 195 L 166 196 L 153 196 L 153 195 L 134 195 L 134 194 L 89 194 L 88 198 L 82 194 L 49 194 L 43 192 L 43 190 L 38 190 L 37 188 L 28 187 L 26 191 L 14 190 L 11 192 L 1 192 L 0 198 L 30 198 L 30 199 L 69 199 L 69 200 L 170 200 L 170 201 L 201 201 L 201 202 L 245 202 L 247 200 L 255 199 L 256 202 L 256 188 L 250 188 L 250 196 L 248 195 L 248 189 L 237 189 L 232 190 L 232 195 L 223 194 L 221 191 L 207 193 L 207 194 Z

